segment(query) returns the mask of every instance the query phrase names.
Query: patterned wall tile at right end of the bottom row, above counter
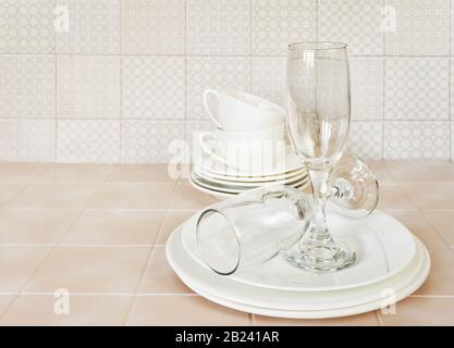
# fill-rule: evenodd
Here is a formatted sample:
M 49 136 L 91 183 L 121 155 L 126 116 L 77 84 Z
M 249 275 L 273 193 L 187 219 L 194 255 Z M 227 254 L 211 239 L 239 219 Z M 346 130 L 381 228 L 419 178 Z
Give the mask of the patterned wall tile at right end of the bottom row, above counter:
M 450 122 L 385 122 L 384 158 L 449 160 Z

